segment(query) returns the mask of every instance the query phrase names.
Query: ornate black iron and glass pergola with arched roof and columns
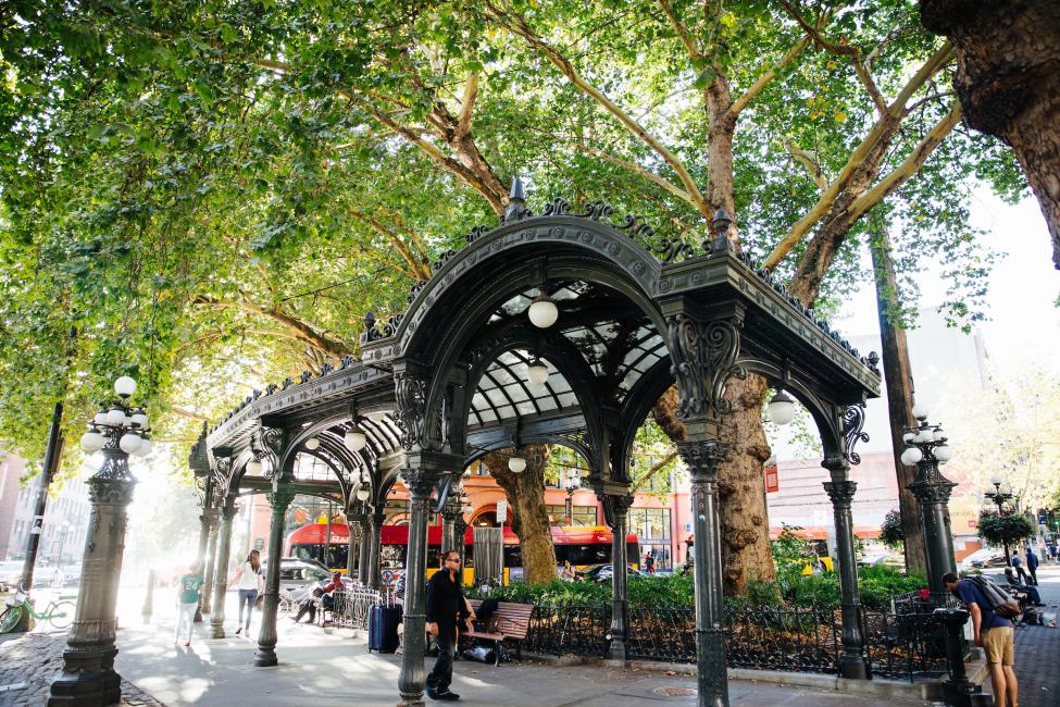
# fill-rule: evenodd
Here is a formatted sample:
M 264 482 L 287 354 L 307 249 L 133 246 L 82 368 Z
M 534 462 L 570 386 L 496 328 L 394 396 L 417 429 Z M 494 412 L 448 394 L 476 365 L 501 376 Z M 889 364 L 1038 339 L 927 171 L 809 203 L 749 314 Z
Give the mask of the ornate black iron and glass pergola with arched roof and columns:
M 296 492 L 332 494 L 348 511 L 351 538 L 367 525 L 361 579 L 377 586 L 383 509 L 402 475 L 410 491 L 407 646 L 399 678 L 404 704 L 420 704 L 424 690 L 428 505 L 435 496 L 440 508 L 445 482 L 476 458 L 528 443 L 578 451 L 591 470 L 586 483 L 618 538 L 613 562 L 625 568 L 634 437 L 651 406 L 676 383 L 677 413 L 688 432 L 677 447 L 691 472 L 697 539 L 699 703 L 727 704 L 718 472 L 728 446 L 719 426 L 729 411 L 727 381 L 757 373 L 798 398 L 816 423 L 838 538 L 840 671 L 866 678 L 849 469 L 858 462 L 852 446 L 863 438 L 864 400 L 878 395 L 876 359 L 860 357 L 778 280 L 736 253 L 726 237 L 729 223 L 720 211 L 701 249 L 675 241 L 657 256 L 638 243 L 651 234 L 643 218 L 612 220 L 602 202 L 574 213 L 562 200 L 535 215 L 516 181 L 499 226 L 474 228 L 461 250 L 445 253 L 432 278 L 413 287 L 403 315 L 383 325 L 369 319 L 360 360 L 347 357 L 320 375 L 303 373 L 255 392 L 204 433 L 192 460 L 205 482 L 205 507 L 222 509 L 217 567 L 227 562 L 238 494 L 267 491 L 273 509 L 258 665 L 276 663 L 278 559 L 284 514 Z M 559 311 L 547 328 L 526 314 L 541 296 Z M 527 383 L 534 360 L 548 367 L 544 385 Z M 354 429 L 367 437 L 360 452 L 344 444 Z M 310 439 L 320 444 L 310 449 Z M 295 479 L 300 455 L 333 470 L 326 491 Z M 248 462 L 263 460 L 249 466 L 264 473 L 248 473 Z M 370 494 L 357 501 L 362 484 Z M 204 537 L 211 522 L 205 512 Z M 213 625 L 223 635 L 223 616 L 216 619 L 221 574 L 214 580 Z M 625 572 L 615 572 L 613 582 L 611 657 L 624 659 Z

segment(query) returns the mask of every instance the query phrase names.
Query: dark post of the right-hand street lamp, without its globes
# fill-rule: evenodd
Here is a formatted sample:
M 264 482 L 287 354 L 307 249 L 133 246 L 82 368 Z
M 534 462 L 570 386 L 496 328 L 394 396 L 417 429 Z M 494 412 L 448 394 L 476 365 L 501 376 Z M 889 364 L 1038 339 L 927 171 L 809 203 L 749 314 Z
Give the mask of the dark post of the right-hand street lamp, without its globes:
M 916 464 L 916 479 L 909 484 L 909 491 L 913 492 L 920 504 L 932 604 L 941 607 L 949 597 L 949 592 L 943 586 L 943 574 L 957 573 L 949 522 L 949 496 L 957 484 L 939 473 L 938 461 L 931 455 L 924 455 Z

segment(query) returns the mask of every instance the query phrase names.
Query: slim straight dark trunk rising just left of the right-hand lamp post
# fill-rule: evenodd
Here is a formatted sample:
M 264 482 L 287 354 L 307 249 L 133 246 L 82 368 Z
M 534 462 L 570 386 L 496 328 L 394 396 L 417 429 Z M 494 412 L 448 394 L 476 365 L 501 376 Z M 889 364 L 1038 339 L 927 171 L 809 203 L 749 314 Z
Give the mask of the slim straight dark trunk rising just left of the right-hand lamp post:
M 880 313 L 880 336 L 883 349 L 884 381 L 887 385 L 887 414 L 890 419 L 890 445 L 895 457 L 895 474 L 898 477 L 898 508 L 901 511 L 901 530 L 905 534 L 906 571 L 927 575 L 924 555 L 924 528 L 920 520 L 920 505 L 909 491 L 916 476 L 915 467 L 901 463 L 906 448 L 901 439 L 903 429 L 914 420 L 913 376 L 909 365 L 909 348 L 906 330 L 898 317 L 898 281 L 890 259 L 890 243 L 884 231 L 872 240 L 872 269 L 876 280 L 876 309 Z

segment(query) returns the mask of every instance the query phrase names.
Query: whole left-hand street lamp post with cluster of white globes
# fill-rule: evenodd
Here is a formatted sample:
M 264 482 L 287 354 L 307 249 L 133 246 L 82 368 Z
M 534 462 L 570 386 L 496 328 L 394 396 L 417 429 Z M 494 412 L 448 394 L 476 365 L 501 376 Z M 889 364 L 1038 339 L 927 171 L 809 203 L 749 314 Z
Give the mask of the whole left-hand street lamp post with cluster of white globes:
M 112 705 L 122 696 L 122 679 L 114 671 L 114 609 L 125 550 L 126 508 L 136 485 L 128 457 L 147 456 L 151 442 L 144 409 L 128 405 L 136 381 L 123 375 L 115 381 L 114 392 L 120 400 L 100 408 L 82 436 L 82 449 L 102 452 L 103 463 L 88 480 L 92 508 L 77 610 L 63 653 L 63 671 L 51 683 L 49 707 Z

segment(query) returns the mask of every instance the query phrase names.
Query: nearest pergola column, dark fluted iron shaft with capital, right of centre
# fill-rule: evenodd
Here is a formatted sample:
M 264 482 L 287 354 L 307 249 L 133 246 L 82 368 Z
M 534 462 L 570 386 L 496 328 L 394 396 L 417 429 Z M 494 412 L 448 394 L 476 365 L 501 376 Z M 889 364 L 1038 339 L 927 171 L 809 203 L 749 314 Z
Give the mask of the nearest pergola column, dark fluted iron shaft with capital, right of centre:
M 691 473 L 693 545 L 696 584 L 696 658 L 699 707 L 728 706 L 725 662 L 725 606 L 722 601 L 722 546 L 718 517 L 718 469 L 728 445 L 713 439 L 679 442 L 677 451 Z

